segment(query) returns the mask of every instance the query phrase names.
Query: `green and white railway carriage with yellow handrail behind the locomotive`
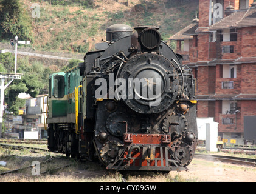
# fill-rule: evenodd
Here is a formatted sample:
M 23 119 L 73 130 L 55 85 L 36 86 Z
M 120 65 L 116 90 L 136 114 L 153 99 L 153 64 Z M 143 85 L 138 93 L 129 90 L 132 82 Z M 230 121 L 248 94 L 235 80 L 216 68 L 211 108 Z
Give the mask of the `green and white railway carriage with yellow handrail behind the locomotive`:
M 57 136 L 60 139 L 76 139 L 72 137 L 74 130 L 78 129 L 79 110 L 81 110 L 79 101 L 81 101 L 80 84 L 82 77 L 80 69 L 74 67 L 66 72 L 53 73 L 49 76 L 49 96 L 48 110 L 49 115 L 47 124 L 49 133 L 49 147 L 55 147 L 55 152 L 64 152 L 69 155 L 71 150 L 63 150 L 68 146 L 63 142 L 56 142 Z M 75 141 L 72 141 L 72 143 Z M 56 148 L 58 148 L 56 150 Z

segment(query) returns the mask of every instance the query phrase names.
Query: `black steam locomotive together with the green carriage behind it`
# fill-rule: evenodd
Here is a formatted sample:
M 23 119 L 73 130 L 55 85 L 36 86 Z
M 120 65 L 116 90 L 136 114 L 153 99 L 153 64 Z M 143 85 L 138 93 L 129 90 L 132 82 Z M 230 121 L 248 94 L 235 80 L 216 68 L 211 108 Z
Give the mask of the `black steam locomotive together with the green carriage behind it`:
M 195 78 L 159 28 L 125 24 L 49 76 L 48 148 L 111 170 L 187 170 L 198 144 Z

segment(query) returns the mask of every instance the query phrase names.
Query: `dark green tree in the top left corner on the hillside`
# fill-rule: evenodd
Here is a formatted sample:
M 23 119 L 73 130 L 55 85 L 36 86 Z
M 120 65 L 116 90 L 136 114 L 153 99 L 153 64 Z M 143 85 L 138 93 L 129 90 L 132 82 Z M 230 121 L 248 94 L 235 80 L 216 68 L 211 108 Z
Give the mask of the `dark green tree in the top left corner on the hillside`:
M 31 17 L 18 0 L 0 0 L 0 38 L 33 41 Z

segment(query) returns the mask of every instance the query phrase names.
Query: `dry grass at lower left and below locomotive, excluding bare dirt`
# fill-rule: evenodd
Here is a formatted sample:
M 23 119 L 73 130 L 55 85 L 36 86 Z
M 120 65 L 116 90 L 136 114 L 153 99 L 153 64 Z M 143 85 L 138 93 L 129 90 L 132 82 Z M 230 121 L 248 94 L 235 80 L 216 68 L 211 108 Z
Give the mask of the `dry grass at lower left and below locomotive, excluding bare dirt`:
M 32 161 L 46 161 L 49 153 L 31 153 L 28 150 L 11 150 L 0 148 L 0 161 L 7 162 L 6 166 L 0 166 L 0 173 L 21 167 L 31 166 Z M 69 167 L 55 170 L 58 167 Z M 46 173 L 44 173 L 46 172 Z M 16 173 L 0 175 L 0 182 L 169 182 L 187 181 L 178 175 L 132 172 L 122 175 L 116 171 L 107 171 L 97 162 L 75 161 L 60 156 L 46 164 L 40 164 L 40 175 L 32 175 L 32 168 L 19 170 Z

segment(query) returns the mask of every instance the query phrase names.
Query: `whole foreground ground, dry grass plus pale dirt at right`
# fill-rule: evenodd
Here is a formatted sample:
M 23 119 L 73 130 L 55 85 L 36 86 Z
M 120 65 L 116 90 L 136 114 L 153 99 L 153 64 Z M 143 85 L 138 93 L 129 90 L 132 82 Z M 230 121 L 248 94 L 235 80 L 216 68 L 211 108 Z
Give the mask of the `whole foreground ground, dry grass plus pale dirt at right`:
M 12 156 L 11 156 L 12 155 Z M 30 166 L 32 161 L 45 161 L 52 153 L 32 153 L 28 150 L 11 150 L 0 147 L 0 173 L 20 167 Z M 55 155 L 56 156 L 56 155 Z M 57 167 L 69 167 L 56 170 Z M 189 171 L 154 173 L 108 171 L 101 164 L 90 161 L 75 161 L 60 155 L 45 165 L 40 164 L 40 175 L 32 175 L 32 169 L 0 175 L 0 182 L 197 182 L 197 181 L 252 181 L 256 177 L 255 167 L 221 164 L 222 176 L 215 175 L 214 162 L 193 159 Z M 46 173 L 44 173 L 46 172 Z M 235 179 L 234 179 L 235 178 Z

